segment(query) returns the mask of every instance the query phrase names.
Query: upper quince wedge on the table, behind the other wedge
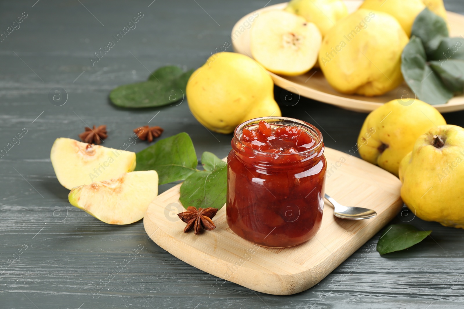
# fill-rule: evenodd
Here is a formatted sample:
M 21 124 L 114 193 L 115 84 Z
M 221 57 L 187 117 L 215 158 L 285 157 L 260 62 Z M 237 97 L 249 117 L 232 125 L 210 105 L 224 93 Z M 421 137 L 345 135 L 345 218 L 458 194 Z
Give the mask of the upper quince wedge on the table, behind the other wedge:
M 135 152 L 56 139 L 50 152 L 53 169 L 66 189 L 117 177 L 135 169 Z

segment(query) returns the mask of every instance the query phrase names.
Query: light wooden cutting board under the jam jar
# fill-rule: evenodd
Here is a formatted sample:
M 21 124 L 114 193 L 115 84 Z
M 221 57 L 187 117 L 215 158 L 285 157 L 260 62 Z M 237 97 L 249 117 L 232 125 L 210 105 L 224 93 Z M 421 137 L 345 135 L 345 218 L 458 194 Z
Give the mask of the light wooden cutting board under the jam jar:
M 143 219 L 145 231 L 184 262 L 252 290 L 290 295 L 309 289 L 392 220 L 403 205 L 397 177 L 341 151 L 326 148 L 324 155 L 328 163 L 326 193 L 342 205 L 374 209 L 375 218 L 338 219 L 326 203 L 321 229 L 314 238 L 299 246 L 265 248 L 230 230 L 226 207 L 213 218 L 213 231 L 183 233 L 185 223 L 176 215 L 184 211 L 178 184 L 150 204 Z

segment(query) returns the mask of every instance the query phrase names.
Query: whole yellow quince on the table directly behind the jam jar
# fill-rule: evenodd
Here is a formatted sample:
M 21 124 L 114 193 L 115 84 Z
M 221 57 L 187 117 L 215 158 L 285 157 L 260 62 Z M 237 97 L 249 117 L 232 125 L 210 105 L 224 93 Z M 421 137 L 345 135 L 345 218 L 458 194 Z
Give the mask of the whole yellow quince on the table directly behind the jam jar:
M 203 126 L 228 134 L 245 120 L 281 116 L 271 76 L 242 54 L 219 52 L 187 82 L 188 107 Z

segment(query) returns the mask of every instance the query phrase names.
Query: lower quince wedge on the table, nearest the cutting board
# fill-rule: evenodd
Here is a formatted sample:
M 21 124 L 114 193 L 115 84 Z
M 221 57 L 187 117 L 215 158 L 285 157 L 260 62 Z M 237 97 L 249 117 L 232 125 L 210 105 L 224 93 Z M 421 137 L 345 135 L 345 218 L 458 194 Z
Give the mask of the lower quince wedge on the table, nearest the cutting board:
M 143 218 L 157 195 L 158 174 L 144 170 L 73 188 L 68 199 L 100 221 L 130 224 Z

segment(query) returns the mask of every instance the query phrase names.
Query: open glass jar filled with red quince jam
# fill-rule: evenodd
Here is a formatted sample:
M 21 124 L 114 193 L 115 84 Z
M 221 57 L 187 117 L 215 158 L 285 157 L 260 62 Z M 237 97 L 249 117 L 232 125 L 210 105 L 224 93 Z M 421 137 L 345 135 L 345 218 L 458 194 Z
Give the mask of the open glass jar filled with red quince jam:
M 263 117 L 239 125 L 227 157 L 226 218 L 238 236 L 267 247 L 299 245 L 322 221 L 326 160 L 307 122 Z

